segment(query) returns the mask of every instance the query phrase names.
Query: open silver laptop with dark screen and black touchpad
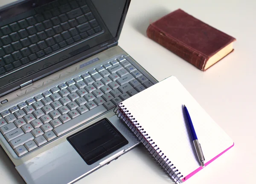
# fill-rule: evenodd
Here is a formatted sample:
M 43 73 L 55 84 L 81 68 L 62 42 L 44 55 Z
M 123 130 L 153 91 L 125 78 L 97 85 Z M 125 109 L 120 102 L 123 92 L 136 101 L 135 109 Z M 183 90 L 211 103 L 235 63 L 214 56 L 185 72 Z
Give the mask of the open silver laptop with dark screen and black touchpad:
M 74 183 L 139 144 L 113 113 L 157 83 L 118 46 L 129 3 L 0 9 L 0 144 L 27 184 Z

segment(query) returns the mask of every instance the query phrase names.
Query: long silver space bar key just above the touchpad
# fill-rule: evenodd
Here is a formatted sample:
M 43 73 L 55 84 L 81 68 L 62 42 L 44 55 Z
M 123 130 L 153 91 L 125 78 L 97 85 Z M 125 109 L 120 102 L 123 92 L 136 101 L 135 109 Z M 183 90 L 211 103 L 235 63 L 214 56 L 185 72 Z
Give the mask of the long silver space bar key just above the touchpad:
M 87 122 L 90 119 L 95 118 L 96 116 L 99 116 L 100 114 L 102 114 L 106 111 L 107 111 L 107 109 L 103 105 L 99 105 L 96 108 L 93 108 L 92 110 L 89 110 L 86 113 L 83 113 L 80 116 L 68 121 L 67 123 L 64 123 L 64 124 L 54 128 L 53 132 L 57 136 L 60 136 L 63 133 L 66 133 L 69 130 L 72 130 L 73 128 L 83 124 L 84 122 Z

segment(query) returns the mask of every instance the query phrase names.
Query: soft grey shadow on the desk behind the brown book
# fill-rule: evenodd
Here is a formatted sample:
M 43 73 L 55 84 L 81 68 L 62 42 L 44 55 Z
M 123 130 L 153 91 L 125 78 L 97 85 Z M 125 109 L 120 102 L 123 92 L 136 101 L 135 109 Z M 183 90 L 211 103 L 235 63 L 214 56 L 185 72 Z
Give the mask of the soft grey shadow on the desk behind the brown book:
M 161 17 L 169 14 L 172 10 L 166 9 L 164 7 L 154 8 L 148 11 L 147 14 L 143 14 L 144 18 L 134 19 L 134 28 L 147 37 L 148 25 L 160 19 Z

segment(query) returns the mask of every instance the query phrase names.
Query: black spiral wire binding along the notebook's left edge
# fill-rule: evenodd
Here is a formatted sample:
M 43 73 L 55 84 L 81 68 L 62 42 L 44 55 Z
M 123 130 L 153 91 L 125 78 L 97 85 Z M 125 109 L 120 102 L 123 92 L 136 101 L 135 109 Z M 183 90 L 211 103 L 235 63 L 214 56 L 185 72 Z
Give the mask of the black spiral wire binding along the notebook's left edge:
M 171 178 L 175 184 L 182 183 L 180 178 L 182 178 L 183 175 L 181 175 L 179 170 L 165 156 L 162 150 L 157 147 L 157 144 L 153 142 L 151 137 L 146 133 L 143 127 L 140 126 L 140 123 L 138 123 L 137 120 L 131 115 L 129 110 L 125 108 L 125 105 L 123 105 L 122 102 L 114 108 L 114 113 L 128 126 L 129 130 L 131 133 L 133 133 L 137 140 L 144 145 L 147 152 L 149 152 L 151 157 L 159 164 L 159 167 L 161 167 L 167 176 Z

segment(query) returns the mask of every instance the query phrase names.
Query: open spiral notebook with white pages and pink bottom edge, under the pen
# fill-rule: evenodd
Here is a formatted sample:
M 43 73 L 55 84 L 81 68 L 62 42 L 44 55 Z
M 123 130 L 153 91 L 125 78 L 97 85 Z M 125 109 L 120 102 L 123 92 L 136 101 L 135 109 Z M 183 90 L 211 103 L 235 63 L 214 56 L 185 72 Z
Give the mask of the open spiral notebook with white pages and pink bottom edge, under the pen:
M 137 93 L 114 110 L 175 183 L 183 183 L 203 169 L 187 127 L 183 104 L 189 110 L 207 167 L 234 143 L 176 77 L 170 76 Z

